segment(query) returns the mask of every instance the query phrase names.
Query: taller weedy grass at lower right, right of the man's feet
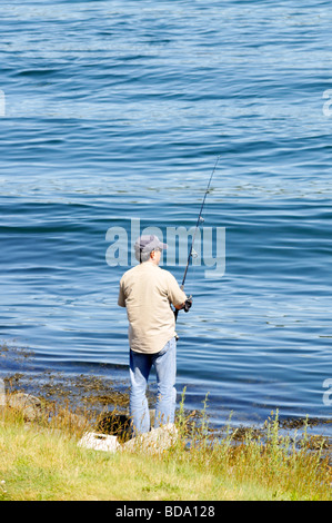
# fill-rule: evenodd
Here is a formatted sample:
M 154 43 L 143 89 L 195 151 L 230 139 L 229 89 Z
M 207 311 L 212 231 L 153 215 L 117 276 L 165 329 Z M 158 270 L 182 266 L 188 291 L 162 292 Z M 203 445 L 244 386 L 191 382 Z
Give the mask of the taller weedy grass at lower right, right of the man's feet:
M 184 420 L 180 426 L 183 434 Z M 323 455 L 323 440 L 321 447 L 312 452 L 309 450 L 308 426 L 298 441 L 296 434 L 292 437 L 281 435 L 278 411 L 275 415 L 272 413 L 264 428 L 262 435 L 249 428 L 239 443 L 234 438 L 237 431 L 231 431 L 229 424 L 224 437 L 211 438 L 203 416 L 201 428 L 194 427 L 191 432 L 190 452 L 180 452 L 177 460 L 188 460 L 194 467 L 220 478 L 227 477 L 231 485 L 242 485 L 252 493 L 261 491 L 268 497 L 331 500 L 331 456 Z M 181 437 L 182 445 L 183 441 Z

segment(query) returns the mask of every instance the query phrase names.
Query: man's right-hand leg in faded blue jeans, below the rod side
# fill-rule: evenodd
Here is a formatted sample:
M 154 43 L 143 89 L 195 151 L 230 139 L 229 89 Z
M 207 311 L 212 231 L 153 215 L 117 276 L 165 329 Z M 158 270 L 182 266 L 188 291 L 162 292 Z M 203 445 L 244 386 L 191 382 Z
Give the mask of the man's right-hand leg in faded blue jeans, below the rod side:
M 155 405 L 154 428 L 167 423 L 174 423 L 177 402 L 177 342 L 170 339 L 162 351 L 153 354 L 157 373 L 158 396 Z

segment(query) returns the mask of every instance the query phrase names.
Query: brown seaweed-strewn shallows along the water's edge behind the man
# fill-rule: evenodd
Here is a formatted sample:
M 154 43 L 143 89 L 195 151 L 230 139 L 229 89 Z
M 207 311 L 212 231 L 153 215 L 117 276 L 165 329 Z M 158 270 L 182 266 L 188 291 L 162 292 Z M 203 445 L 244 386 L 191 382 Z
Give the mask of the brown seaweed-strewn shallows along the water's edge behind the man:
M 39 379 L 37 381 L 37 376 Z M 87 416 L 90 421 L 98 421 L 101 416 L 122 416 L 129 420 L 129 387 L 125 383 L 103 378 L 95 375 L 67 376 L 60 372 L 44 371 L 32 376 L 24 373 L 14 373 L 4 377 L 6 394 L 18 393 L 37 397 L 46 408 L 52 406 L 67 408 L 79 416 Z M 150 407 L 154 402 L 154 395 L 148 392 Z M 180 405 L 181 408 L 181 405 Z M 150 411 L 153 413 L 153 409 Z M 204 411 L 185 408 L 185 397 L 183 397 L 183 413 L 189 420 L 189 424 L 199 426 L 204 423 L 208 427 L 210 438 L 222 438 L 224 434 L 231 433 L 234 443 L 243 443 L 250 434 L 254 438 L 264 438 L 266 421 L 261 424 L 232 426 L 231 420 L 222 428 L 213 427 L 210 424 L 209 408 Z M 179 409 L 177 409 L 179 415 Z M 324 428 L 332 424 L 332 421 L 313 417 L 289 417 L 278 420 L 280 433 L 290 434 L 298 437 L 299 442 L 305 437 L 306 447 L 310 451 L 323 451 L 331 453 L 332 438 L 324 434 Z M 310 433 L 314 430 L 314 433 Z M 109 433 L 109 432 L 107 432 Z M 110 433 L 109 433 L 110 434 Z M 332 457 L 331 457 L 332 460 Z

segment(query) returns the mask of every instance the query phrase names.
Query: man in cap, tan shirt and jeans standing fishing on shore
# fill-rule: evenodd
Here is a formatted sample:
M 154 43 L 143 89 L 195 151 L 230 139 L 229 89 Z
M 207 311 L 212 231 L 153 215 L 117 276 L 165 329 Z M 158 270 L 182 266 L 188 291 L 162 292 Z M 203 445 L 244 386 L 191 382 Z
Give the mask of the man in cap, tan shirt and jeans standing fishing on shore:
M 154 427 L 174 422 L 177 339 L 171 304 L 175 310 L 188 312 L 192 299 L 171 273 L 159 267 L 167 247 L 153 235 L 138 238 L 134 250 L 140 265 L 124 273 L 120 280 L 118 305 L 127 308 L 129 319 L 130 416 L 135 435 L 150 430 L 145 393 L 152 366 L 158 383 Z

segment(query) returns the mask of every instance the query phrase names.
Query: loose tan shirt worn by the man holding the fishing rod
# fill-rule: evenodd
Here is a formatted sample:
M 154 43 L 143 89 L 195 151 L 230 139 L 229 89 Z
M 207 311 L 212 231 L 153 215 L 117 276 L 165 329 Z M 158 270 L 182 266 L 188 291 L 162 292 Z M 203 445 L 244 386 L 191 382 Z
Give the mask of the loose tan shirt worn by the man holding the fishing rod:
M 187 299 L 174 276 L 151 262 L 127 270 L 120 280 L 118 305 L 127 307 L 129 344 L 137 353 L 159 353 L 175 335 L 170 304 Z

